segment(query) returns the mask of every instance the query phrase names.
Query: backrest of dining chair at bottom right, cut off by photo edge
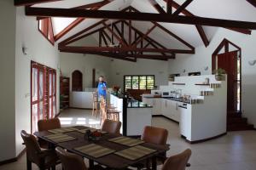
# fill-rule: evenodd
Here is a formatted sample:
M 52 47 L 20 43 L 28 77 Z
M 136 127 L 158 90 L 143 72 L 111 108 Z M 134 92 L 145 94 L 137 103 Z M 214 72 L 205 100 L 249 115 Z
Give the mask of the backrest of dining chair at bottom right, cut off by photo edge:
M 162 170 L 184 170 L 188 164 L 189 157 L 191 156 L 191 150 L 184 150 L 182 153 L 169 157 L 163 167 Z

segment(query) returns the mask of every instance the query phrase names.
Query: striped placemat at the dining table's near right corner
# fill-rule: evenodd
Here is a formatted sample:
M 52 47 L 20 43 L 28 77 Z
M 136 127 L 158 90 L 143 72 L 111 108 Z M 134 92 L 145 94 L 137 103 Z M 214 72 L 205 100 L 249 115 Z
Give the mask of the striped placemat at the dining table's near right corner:
M 134 160 L 137 160 L 137 159 L 139 159 L 143 156 L 147 156 L 151 153 L 154 153 L 155 151 L 156 150 L 149 149 L 149 148 L 144 147 L 142 145 L 137 145 L 137 146 L 133 146 L 131 148 L 125 149 L 125 150 L 117 151 L 114 154 L 134 161 Z

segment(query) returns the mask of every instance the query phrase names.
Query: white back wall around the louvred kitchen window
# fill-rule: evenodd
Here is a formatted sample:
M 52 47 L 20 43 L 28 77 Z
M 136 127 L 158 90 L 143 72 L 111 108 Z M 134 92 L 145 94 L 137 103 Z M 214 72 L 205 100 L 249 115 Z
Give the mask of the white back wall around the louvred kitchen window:
M 167 85 L 168 62 L 153 59 L 137 59 L 137 62 L 130 62 L 120 59 L 113 59 L 111 62 L 111 82 L 124 88 L 125 75 L 154 75 L 155 85 Z

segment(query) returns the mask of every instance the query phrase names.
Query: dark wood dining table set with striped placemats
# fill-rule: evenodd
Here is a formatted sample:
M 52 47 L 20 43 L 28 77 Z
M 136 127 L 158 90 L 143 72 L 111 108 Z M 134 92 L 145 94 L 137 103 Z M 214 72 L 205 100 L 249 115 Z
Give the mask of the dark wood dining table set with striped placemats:
M 88 127 L 84 127 L 84 126 L 76 126 L 74 128 L 77 129 L 84 129 L 84 128 L 88 128 Z M 42 132 L 35 132 L 34 135 L 36 135 L 38 137 L 38 139 L 43 139 L 45 141 L 47 141 L 49 143 L 49 145 L 52 148 L 55 148 L 56 146 L 59 146 L 63 149 L 68 150 L 69 152 L 72 152 L 74 154 L 77 154 L 79 156 L 82 156 L 84 158 L 87 158 L 90 162 L 90 169 L 96 169 L 96 167 L 94 167 L 95 162 L 99 165 L 105 166 L 108 169 L 126 169 L 127 167 L 131 167 L 132 165 L 135 165 L 139 162 L 142 161 L 148 161 L 152 163 L 152 169 L 156 170 L 157 168 L 157 163 L 156 163 L 156 159 L 157 156 L 159 156 L 160 154 L 163 154 L 166 152 L 166 150 L 169 150 L 169 145 L 159 145 L 159 144 L 151 144 L 151 143 L 143 143 L 140 144 L 144 147 L 147 147 L 149 149 L 153 149 L 155 150 L 154 153 L 148 154 L 147 156 L 143 156 L 141 158 L 138 158 L 137 160 L 130 160 L 127 159 L 125 157 L 122 156 L 118 156 L 114 153 L 112 154 L 108 154 L 106 156 L 101 156 L 101 157 L 93 157 L 93 156 L 89 156 L 86 155 L 82 152 L 79 152 L 78 150 L 74 150 L 74 148 L 76 147 L 80 147 L 83 146 L 85 144 L 99 144 L 103 147 L 112 149 L 112 150 L 125 150 L 127 148 L 130 148 L 129 146 L 126 146 L 124 144 L 117 144 L 117 143 L 113 143 L 112 141 L 109 141 L 108 139 L 113 139 L 116 137 L 121 136 L 120 134 L 111 134 L 111 133 L 105 133 L 102 137 L 102 139 L 99 139 L 97 141 L 89 141 L 88 139 L 84 138 L 84 133 L 80 133 L 79 131 L 73 131 L 73 132 L 67 132 L 65 134 L 74 137 L 74 140 L 71 141 L 67 141 L 67 142 L 61 142 L 61 143 L 55 143 L 47 138 L 45 138 L 45 136 L 52 134 L 49 133 L 49 131 L 42 131 Z

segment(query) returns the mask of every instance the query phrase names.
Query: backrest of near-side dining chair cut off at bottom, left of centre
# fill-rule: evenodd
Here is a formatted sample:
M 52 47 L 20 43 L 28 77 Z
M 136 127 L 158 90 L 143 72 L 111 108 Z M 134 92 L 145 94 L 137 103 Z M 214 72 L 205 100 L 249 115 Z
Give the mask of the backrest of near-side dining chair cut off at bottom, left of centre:
M 61 159 L 62 168 L 64 170 L 87 170 L 84 159 L 81 156 L 68 153 L 60 147 L 56 147 L 55 150 Z

